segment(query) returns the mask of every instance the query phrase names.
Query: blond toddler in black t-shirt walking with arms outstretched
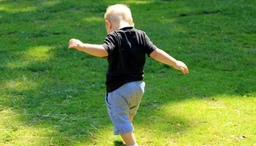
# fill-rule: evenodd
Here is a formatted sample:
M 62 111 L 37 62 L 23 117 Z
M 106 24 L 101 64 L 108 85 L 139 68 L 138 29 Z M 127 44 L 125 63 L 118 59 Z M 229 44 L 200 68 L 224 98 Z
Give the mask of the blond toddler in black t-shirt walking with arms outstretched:
M 71 39 L 68 49 L 108 57 L 105 102 L 114 124 L 114 135 L 121 135 L 128 146 L 138 146 L 132 120 L 144 93 L 145 82 L 142 80 L 146 54 L 184 74 L 188 73 L 188 68 L 183 62 L 158 49 L 144 31 L 134 28 L 131 11 L 126 5 L 109 6 L 104 17 L 108 35 L 102 45 Z

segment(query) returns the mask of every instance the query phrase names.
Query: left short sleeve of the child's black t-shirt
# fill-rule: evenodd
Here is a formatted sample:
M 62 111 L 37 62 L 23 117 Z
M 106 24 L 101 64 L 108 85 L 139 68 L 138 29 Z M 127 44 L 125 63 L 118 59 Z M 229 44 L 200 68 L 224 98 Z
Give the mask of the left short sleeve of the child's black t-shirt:
M 114 34 L 110 33 L 106 35 L 105 41 L 102 46 L 108 51 L 108 56 L 111 55 L 116 47 L 116 38 Z

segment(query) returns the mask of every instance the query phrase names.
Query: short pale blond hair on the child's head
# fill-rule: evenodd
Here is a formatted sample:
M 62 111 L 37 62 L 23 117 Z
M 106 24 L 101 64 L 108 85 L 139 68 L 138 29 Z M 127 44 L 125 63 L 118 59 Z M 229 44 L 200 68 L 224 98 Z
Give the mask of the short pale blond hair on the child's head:
M 118 20 L 128 22 L 133 26 L 132 13 L 127 5 L 115 4 L 108 6 L 104 15 L 105 20 Z

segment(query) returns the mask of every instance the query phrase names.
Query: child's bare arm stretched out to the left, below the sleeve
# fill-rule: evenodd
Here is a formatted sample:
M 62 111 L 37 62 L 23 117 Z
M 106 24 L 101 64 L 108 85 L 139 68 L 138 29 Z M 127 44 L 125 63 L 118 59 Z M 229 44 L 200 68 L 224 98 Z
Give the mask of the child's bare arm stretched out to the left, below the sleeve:
M 97 57 L 106 57 L 108 52 L 102 45 L 93 45 L 88 43 L 83 43 L 78 39 L 71 39 L 68 42 L 68 49 L 75 48 L 78 51 L 83 51 L 85 53 L 97 56 Z

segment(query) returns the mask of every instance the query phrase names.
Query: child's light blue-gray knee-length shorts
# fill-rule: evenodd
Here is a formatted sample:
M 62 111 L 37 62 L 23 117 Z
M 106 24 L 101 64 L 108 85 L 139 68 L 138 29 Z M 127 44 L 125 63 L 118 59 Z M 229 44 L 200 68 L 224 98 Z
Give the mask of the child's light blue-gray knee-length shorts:
M 133 130 L 129 115 L 135 115 L 144 94 L 145 82 L 128 82 L 113 92 L 107 92 L 105 102 L 108 114 L 114 124 L 114 135 Z

